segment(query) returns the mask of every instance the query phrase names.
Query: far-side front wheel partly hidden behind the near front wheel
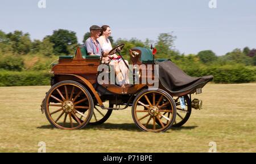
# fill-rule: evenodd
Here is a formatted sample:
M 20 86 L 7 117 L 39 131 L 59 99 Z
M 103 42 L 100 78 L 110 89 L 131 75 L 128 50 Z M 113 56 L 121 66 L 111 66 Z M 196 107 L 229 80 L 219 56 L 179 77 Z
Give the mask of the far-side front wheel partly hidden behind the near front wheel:
M 184 106 L 180 103 L 180 101 L 182 101 L 181 98 L 184 98 Z M 172 124 L 172 127 L 181 127 L 188 121 L 189 116 L 191 115 L 191 102 L 189 100 L 188 95 L 173 97 L 173 99 L 176 105 L 177 115 L 174 124 Z M 168 113 L 165 112 L 163 113 L 163 115 L 166 116 L 168 115 Z M 160 124 L 158 121 L 156 123 Z

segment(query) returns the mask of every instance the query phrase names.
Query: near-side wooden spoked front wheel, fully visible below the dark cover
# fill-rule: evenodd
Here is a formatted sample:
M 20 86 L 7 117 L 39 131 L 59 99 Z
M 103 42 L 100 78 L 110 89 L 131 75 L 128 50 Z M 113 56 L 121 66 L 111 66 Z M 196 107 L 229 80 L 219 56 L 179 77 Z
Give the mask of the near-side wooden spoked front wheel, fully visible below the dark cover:
M 170 94 L 164 90 L 146 89 L 135 97 L 131 113 L 135 124 L 141 130 L 164 132 L 174 123 L 176 106 Z M 164 113 L 167 115 L 163 115 Z

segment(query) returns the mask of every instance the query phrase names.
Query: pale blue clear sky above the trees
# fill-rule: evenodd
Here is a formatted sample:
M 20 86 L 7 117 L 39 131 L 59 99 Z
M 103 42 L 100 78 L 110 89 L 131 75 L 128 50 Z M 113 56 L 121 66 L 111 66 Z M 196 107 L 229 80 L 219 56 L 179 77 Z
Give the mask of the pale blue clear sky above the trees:
M 224 55 L 235 48 L 256 48 L 256 1 L 216 0 L 1 0 L 0 30 L 21 30 L 40 39 L 55 29 L 75 31 L 79 42 L 90 25 L 108 24 L 114 40 L 136 37 L 157 40 L 173 32 L 180 53 L 213 50 Z

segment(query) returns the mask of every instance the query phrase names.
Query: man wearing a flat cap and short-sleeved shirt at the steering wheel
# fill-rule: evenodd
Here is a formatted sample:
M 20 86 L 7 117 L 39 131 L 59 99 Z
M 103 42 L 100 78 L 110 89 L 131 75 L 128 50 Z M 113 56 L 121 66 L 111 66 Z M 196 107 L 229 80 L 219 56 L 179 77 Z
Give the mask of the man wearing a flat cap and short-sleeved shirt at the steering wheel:
M 92 25 L 90 27 L 90 37 L 85 41 L 85 46 L 87 49 L 88 55 L 102 55 L 103 57 L 108 58 L 108 54 L 104 53 L 101 49 L 100 42 L 97 38 L 100 37 L 101 27 L 98 25 Z

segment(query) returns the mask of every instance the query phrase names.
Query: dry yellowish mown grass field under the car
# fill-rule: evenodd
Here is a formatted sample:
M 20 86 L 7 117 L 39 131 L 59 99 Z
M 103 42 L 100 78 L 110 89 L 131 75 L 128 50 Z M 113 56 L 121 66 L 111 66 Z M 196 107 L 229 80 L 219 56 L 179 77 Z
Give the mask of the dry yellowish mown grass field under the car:
M 256 152 L 256 83 L 208 84 L 192 98 L 203 110 L 192 110 L 181 128 L 142 132 L 130 108 L 113 111 L 100 126 L 65 131 L 52 128 L 40 103 L 49 86 L 0 87 L 0 152 Z

